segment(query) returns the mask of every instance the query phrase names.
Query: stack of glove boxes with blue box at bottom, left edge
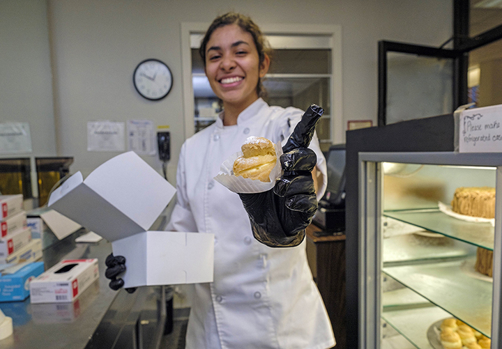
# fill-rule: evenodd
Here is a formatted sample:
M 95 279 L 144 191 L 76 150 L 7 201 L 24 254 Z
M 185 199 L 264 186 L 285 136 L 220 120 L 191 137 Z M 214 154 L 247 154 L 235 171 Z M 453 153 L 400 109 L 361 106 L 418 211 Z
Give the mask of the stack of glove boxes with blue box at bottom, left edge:
M 0 195 L 0 302 L 25 300 L 29 283 L 44 271 L 40 239 L 31 237 L 23 196 Z

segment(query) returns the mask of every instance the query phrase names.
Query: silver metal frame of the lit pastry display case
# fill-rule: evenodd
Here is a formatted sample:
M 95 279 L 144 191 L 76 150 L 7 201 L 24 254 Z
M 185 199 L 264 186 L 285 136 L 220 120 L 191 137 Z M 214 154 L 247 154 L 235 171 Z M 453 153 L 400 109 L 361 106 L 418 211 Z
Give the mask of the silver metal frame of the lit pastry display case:
M 496 168 L 492 348 L 502 348 L 502 153 L 359 153 L 359 348 L 380 348 L 383 215 L 382 162 Z M 448 309 L 445 309 L 448 311 Z M 425 336 L 425 333 L 424 333 Z

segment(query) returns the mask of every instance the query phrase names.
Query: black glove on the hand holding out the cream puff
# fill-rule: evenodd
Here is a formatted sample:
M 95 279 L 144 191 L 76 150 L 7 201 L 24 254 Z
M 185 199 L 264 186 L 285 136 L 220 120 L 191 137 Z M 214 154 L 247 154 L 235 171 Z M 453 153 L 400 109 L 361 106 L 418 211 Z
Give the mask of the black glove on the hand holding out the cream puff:
M 317 163 L 307 148 L 324 110 L 312 104 L 282 147 L 283 175 L 273 189 L 238 194 L 250 217 L 254 238 L 269 247 L 294 247 L 305 238 L 305 228 L 317 211 L 312 169 Z

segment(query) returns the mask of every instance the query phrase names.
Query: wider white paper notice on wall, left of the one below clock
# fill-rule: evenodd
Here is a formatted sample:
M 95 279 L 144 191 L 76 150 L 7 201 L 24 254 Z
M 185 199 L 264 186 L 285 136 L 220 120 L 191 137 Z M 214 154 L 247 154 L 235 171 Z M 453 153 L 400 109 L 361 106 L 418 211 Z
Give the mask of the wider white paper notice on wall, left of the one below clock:
M 124 151 L 124 123 L 116 121 L 90 121 L 87 123 L 88 151 Z

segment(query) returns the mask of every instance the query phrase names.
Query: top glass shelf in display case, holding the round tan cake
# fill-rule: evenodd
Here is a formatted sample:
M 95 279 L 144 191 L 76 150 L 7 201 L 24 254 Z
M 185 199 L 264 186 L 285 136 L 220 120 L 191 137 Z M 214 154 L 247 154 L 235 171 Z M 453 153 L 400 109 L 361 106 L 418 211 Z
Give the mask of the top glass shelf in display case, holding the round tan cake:
M 466 222 L 438 209 L 385 211 L 383 215 L 493 251 L 494 226 Z

